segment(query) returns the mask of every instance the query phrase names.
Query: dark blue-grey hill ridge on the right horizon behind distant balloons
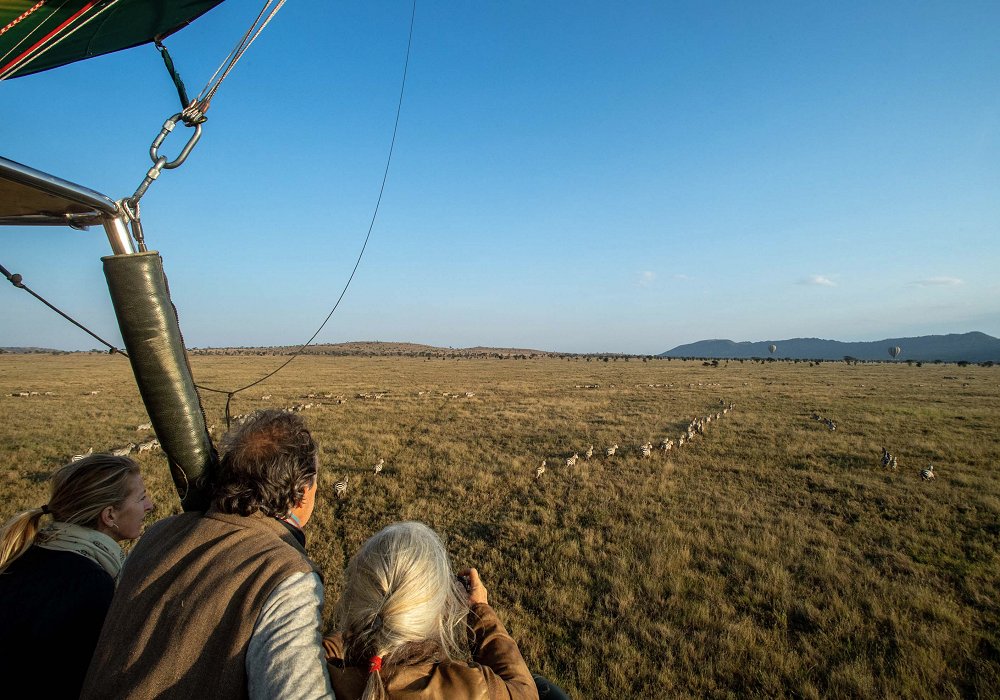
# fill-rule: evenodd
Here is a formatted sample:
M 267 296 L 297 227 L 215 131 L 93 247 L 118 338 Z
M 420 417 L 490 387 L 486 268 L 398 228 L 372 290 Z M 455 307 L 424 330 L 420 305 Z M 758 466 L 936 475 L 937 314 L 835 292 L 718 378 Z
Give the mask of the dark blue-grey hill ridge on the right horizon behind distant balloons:
M 777 346 L 772 355 L 769 346 Z M 789 338 L 735 343 L 732 340 L 700 340 L 678 345 L 660 357 L 705 357 L 746 359 L 774 357 L 799 360 L 891 360 L 889 348 L 902 348 L 897 360 L 918 362 L 1000 362 L 1000 339 L 985 333 L 922 335 L 915 338 L 886 338 L 870 343 L 845 343 L 820 338 Z

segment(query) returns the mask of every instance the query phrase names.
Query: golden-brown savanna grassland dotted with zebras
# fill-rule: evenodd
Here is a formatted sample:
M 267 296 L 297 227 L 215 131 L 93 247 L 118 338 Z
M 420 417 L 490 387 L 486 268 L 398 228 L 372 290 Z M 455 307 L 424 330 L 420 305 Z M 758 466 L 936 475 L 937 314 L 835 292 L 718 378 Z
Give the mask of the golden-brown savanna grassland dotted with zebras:
M 280 361 L 192 365 L 234 388 Z M 0 356 L 0 394 L 4 518 L 43 503 L 71 454 L 137 441 L 147 420 L 120 357 Z M 224 395 L 203 399 L 221 426 Z M 720 401 L 735 409 L 703 436 L 641 456 Z M 350 555 L 417 519 L 574 697 L 1000 696 L 1000 368 L 304 357 L 233 412 L 305 402 L 328 621 Z M 154 515 L 177 511 L 162 453 L 138 459 Z

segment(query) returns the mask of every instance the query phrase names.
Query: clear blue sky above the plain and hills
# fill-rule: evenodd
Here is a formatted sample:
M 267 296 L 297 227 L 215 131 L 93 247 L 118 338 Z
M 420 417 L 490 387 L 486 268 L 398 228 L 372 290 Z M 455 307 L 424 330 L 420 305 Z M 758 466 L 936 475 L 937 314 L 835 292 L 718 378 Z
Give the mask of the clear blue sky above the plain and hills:
M 228 0 L 167 40 L 192 93 L 258 9 Z M 150 188 L 189 345 L 293 344 L 326 316 L 409 18 L 290 0 Z M 964 0 L 418 2 L 382 208 L 318 341 L 1000 336 L 998 28 L 1000 4 Z M 151 46 L 84 61 L 0 84 L 0 155 L 119 198 L 175 111 Z M 0 228 L 0 264 L 117 342 L 109 252 L 98 229 Z M 0 345 L 95 343 L 4 284 Z

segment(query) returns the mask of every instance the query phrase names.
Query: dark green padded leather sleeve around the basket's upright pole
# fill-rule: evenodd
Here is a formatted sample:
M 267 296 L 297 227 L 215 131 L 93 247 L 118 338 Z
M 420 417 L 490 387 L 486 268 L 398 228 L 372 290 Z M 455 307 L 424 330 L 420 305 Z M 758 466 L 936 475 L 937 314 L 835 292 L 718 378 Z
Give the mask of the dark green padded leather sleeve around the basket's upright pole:
M 159 253 L 101 258 L 139 393 L 184 510 L 205 510 L 198 478 L 216 463 Z

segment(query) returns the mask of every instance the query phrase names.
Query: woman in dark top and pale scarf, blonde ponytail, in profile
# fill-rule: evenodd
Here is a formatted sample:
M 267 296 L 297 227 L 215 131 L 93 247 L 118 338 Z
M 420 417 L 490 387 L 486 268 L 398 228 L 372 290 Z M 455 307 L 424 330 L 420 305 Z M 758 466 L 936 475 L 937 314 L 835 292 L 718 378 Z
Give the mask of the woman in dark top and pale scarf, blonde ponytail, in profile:
M 128 457 L 95 454 L 51 477 L 49 502 L 0 532 L 0 674 L 77 698 L 125 554 L 153 504 Z M 42 519 L 50 516 L 44 527 Z

